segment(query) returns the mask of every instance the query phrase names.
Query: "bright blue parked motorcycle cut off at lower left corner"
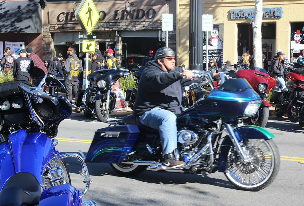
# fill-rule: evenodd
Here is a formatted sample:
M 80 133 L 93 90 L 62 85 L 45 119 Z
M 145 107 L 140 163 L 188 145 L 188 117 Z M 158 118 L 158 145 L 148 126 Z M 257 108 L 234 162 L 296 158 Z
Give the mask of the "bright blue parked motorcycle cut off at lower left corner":
M 60 82 L 47 77 L 52 85 Z M 82 201 L 92 182 L 81 154 L 55 149 L 59 123 L 72 113 L 70 102 L 31 84 L 0 84 L 0 205 L 96 205 Z M 64 159 L 77 158 L 85 189 L 71 185 Z

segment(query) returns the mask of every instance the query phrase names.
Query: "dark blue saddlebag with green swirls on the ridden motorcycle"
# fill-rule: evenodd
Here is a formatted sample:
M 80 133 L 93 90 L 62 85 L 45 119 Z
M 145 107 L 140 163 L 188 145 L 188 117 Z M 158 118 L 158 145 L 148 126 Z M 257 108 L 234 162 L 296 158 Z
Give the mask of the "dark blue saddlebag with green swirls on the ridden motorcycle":
M 86 162 L 121 163 L 139 136 L 137 125 L 118 125 L 98 129 L 86 156 Z

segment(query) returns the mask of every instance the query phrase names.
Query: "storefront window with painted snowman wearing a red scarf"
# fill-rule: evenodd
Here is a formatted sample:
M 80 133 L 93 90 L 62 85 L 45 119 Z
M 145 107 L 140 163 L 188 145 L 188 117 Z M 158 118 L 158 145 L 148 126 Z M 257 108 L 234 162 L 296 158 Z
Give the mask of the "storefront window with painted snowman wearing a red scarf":
M 206 68 L 206 63 L 213 59 L 218 67 L 223 64 L 223 24 L 214 24 L 213 30 L 208 32 L 208 59 L 206 58 L 206 32 L 203 37 L 203 67 Z M 225 60 L 227 61 L 227 60 Z

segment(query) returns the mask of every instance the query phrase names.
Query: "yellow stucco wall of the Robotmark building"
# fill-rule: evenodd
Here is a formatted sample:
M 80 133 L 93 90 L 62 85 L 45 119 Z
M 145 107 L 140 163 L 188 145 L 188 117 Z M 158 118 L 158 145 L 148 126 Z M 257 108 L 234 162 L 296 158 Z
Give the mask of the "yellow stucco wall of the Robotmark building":
M 304 1 L 264 0 L 263 8 L 282 7 L 282 18 L 263 19 L 263 22 L 276 23 L 275 49 L 282 49 L 289 58 L 290 22 L 304 22 L 302 13 Z M 177 56 L 178 63 L 188 65 L 189 52 L 189 0 L 177 0 Z M 203 14 L 212 14 L 214 24 L 223 24 L 223 60 L 237 61 L 237 24 L 248 23 L 249 19 L 230 20 L 230 9 L 254 8 L 254 0 L 204 0 Z

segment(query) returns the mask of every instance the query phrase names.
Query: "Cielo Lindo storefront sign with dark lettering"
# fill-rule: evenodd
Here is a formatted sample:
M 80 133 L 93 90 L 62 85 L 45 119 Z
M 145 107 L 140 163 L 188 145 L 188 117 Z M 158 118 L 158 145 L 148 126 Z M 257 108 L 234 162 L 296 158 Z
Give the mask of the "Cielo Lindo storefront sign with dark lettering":
M 160 21 L 161 15 L 166 13 L 164 5 L 141 6 L 140 8 L 132 8 L 130 13 L 126 13 L 124 9 L 115 8 L 115 5 L 107 8 L 98 8 L 96 5 L 99 20 L 98 22 L 133 22 L 133 21 Z M 77 20 L 73 11 L 67 10 L 51 10 L 49 16 L 50 24 L 75 23 Z

